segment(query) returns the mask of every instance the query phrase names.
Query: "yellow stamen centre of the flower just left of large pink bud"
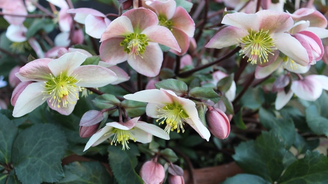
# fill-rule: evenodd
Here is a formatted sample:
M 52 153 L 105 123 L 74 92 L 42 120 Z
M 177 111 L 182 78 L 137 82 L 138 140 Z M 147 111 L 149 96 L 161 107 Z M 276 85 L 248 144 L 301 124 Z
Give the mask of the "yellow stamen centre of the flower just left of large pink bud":
M 185 119 L 189 118 L 189 116 L 182 109 L 181 105 L 169 104 L 162 108 L 158 107 L 157 111 L 161 115 L 157 115 L 159 118 L 156 120 L 156 122 L 162 120 L 159 122 L 159 124 L 164 124 L 164 122 L 167 124 L 164 131 L 166 131 L 168 134 L 170 134 L 170 131 L 174 131 L 175 129 L 178 129 L 178 133 L 180 132 L 180 129 L 182 130 L 182 133 L 185 132 L 185 129 L 183 128 L 184 122 L 182 122 L 182 120 L 185 121 Z

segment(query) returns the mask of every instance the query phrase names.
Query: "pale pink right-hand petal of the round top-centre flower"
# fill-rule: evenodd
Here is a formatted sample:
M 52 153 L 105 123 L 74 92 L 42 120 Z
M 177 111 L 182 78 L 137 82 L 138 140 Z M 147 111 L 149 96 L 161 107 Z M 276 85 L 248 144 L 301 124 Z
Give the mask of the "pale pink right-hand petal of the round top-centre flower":
M 178 52 L 181 52 L 176 38 L 173 36 L 172 32 L 166 27 L 149 26 L 144 29 L 141 34 L 145 34 L 146 38 L 149 39 L 149 42 L 156 42 L 168 46 Z

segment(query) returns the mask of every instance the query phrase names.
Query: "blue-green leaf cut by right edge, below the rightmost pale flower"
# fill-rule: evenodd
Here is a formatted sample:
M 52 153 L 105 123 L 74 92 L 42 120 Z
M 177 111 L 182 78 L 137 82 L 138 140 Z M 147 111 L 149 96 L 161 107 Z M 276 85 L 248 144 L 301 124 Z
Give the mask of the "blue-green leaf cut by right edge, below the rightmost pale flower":
M 306 108 L 305 116 L 307 125 L 315 134 L 328 136 L 328 119 L 320 116 L 315 105 Z

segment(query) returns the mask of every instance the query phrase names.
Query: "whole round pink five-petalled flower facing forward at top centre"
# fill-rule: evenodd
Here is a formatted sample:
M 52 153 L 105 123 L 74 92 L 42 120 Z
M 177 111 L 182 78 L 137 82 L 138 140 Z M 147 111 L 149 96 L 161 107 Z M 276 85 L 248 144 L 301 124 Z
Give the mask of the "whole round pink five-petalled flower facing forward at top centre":
M 139 8 L 125 12 L 102 34 L 101 60 L 110 64 L 128 60 L 137 72 L 149 77 L 158 75 L 163 61 L 158 43 L 181 51 L 171 31 L 158 23 L 151 10 Z

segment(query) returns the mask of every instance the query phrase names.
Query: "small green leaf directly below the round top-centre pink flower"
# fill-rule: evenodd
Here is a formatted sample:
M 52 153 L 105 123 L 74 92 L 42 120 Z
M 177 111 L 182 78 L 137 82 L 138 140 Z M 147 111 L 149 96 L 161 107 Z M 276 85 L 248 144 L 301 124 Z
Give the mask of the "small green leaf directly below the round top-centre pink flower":
M 177 79 L 166 79 L 155 83 L 157 89 L 170 89 L 177 95 L 187 94 L 188 86 L 185 82 Z

